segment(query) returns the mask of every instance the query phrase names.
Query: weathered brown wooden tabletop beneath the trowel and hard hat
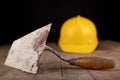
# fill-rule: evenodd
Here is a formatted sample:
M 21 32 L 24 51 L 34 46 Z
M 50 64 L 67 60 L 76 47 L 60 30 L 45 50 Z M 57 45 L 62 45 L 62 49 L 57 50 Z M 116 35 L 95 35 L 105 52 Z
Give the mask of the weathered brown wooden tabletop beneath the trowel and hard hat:
M 70 54 L 60 50 L 56 43 L 48 46 L 60 52 L 66 59 L 81 56 L 100 56 L 115 61 L 115 68 L 108 70 L 88 70 L 72 66 L 61 61 L 50 51 L 45 50 L 41 56 L 41 65 L 36 75 L 23 72 L 4 65 L 11 45 L 0 46 L 0 80 L 120 80 L 120 42 L 100 41 L 99 47 L 90 54 Z

